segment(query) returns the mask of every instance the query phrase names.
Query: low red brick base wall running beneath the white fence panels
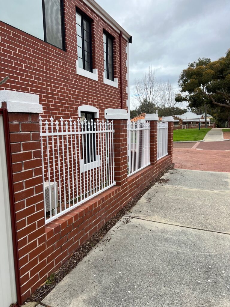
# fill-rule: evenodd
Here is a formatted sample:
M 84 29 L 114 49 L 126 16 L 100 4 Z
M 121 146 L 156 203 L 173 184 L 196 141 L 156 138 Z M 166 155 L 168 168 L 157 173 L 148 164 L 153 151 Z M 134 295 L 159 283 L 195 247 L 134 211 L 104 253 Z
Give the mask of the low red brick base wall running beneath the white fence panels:
M 171 163 L 172 156 L 166 156 L 155 165 L 147 166 L 128 177 L 124 185 L 108 189 L 47 224 L 44 243 L 40 245 L 40 250 L 34 251 L 34 259 L 38 258 L 39 263 L 36 261 L 36 265 L 30 269 L 30 274 L 33 271 L 33 274 L 35 276 L 38 274 L 39 277 L 36 282 L 33 278 L 28 280 L 26 283 L 28 289 L 23 294 L 23 301 Z

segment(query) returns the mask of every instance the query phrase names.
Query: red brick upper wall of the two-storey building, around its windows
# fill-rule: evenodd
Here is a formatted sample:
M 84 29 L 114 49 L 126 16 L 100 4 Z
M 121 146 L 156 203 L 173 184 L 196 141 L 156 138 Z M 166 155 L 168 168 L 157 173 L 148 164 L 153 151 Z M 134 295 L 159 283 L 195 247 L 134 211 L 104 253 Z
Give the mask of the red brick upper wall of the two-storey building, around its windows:
M 79 7 L 93 19 L 92 50 L 93 68 L 98 69 L 98 81 L 76 74 L 77 42 L 75 8 Z M 38 38 L 0 22 L 0 79 L 10 75 L 1 87 L 38 94 L 43 105 L 43 118 L 50 116 L 64 119 L 78 116 L 80 105 L 93 105 L 104 117 L 104 109 L 121 108 L 119 33 L 105 23 L 82 1 L 64 1 L 66 51 L 60 50 Z M 111 33 L 114 40 L 114 78 L 118 88 L 103 83 L 104 55 L 103 29 Z M 122 38 L 123 108 L 126 99 L 127 41 Z

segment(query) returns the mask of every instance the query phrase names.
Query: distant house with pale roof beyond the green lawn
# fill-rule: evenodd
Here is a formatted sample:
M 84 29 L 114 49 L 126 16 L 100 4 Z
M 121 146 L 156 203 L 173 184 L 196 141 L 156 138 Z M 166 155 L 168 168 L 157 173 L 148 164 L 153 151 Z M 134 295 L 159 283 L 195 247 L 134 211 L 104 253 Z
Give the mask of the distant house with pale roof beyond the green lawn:
M 204 114 L 197 115 L 193 112 L 186 112 L 181 115 L 173 115 L 174 117 L 174 127 L 180 126 L 180 125 L 198 125 L 199 122 L 201 125 L 204 125 L 205 123 L 205 116 Z M 210 117 L 211 115 L 207 114 L 207 124 L 210 126 Z M 212 118 L 212 117 L 211 117 Z

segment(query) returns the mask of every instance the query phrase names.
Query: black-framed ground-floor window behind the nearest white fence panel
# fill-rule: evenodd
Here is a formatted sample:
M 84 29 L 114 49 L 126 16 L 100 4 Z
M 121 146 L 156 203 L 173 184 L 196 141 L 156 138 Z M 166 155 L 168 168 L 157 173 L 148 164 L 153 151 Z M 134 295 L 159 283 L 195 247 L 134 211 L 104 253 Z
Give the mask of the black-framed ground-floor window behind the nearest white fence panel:
M 85 119 L 87 120 L 86 125 L 86 131 L 94 131 L 94 125 L 91 125 L 91 119 L 94 122 L 94 113 L 93 112 L 81 112 L 81 122 L 84 123 Z M 88 127 L 88 122 L 90 122 L 90 129 Z M 85 131 L 85 126 L 84 126 Z M 82 154 L 83 154 L 83 164 L 90 163 L 93 161 L 96 161 L 96 144 L 95 144 L 95 138 L 94 133 L 89 134 L 82 134 L 83 138 L 83 148 L 82 148 Z M 87 146 L 86 146 L 87 144 Z M 86 152 L 87 148 L 87 152 Z

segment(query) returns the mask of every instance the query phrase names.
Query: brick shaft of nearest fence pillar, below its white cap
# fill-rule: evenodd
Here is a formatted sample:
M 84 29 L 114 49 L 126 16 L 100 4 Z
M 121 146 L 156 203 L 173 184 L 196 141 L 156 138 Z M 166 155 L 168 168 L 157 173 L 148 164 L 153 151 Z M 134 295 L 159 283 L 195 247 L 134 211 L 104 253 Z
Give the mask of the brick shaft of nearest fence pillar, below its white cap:
M 17 247 L 23 300 L 40 285 L 38 255 L 45 251 L 44 203 L 40 134 L 37 114 L 9 113 Z

